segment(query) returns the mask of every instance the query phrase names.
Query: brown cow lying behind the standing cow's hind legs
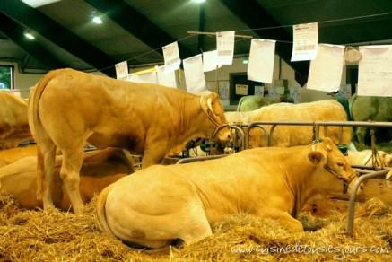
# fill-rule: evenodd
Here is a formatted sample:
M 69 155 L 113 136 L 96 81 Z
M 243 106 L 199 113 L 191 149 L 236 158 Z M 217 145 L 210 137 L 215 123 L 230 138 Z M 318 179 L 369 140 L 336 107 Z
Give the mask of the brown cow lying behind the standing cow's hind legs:
M 55 206 L 66 211 L 71 205 L 69 198 L 55 185 L 55 181 L 61 182 L 58 179 L 61 161 L 62 156 L 57 156 L 55 167 L 57 179 L 52 180 L 51 191 L 55 196 Z M 133 173 L 132 162 L 129 162 L 121 149 L 107 148 L 85 153 L 80 180 L 83 202 L 90 201 L 92 196 L 103 188 L 130 173 Z M 22 158 L 0 168 L 0 190 L 11 194 L 22 208 L 42 207 L 42 201 L 36 197 L 36 177 L 37 157 Z

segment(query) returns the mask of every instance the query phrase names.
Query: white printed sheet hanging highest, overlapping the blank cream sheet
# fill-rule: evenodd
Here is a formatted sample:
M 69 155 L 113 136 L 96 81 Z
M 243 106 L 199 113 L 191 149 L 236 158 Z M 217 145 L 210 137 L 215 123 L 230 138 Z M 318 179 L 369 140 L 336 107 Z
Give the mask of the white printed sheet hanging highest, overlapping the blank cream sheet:
M 318 23 L 293 25 L 292 34 L 292 61 L 315 59 L 318 48 Z

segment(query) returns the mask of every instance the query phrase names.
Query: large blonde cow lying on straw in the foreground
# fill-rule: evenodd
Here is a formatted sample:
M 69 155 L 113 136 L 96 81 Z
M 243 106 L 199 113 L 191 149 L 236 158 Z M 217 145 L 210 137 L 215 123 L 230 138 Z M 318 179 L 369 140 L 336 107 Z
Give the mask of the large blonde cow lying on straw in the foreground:
M 341 195 L 355 178 L 328 138 L 315 145 L 256 148 L 218 160 L 152 166 L 119 179 L 100 193 L 98 219 L 102 231 L 152 249 L 178 239 L 202 240 L 227 214 L 271 217 L 302 231 L 294 217 L 307 199 Z

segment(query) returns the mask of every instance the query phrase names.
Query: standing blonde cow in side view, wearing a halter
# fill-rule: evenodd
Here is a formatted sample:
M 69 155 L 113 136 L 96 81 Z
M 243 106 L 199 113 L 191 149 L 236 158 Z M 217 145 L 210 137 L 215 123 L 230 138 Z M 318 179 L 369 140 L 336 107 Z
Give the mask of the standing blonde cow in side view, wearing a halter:
M 216 93 L 198 96 L 156 84 L 130 83 L 60 69 L 46 74 L 29 100 L 29 124 L 38 144 L 39 183 L 44 208 L 52 205 L 50 185 L 56 150 L 64 155 L 60 177 L 74 211 L 83 206 L 79 170 L 86 141 L 98 148 L 121 147 L 144 154 L 142 166 L 161 160 L 195 137 L 208 137 L 226 124 Z M 217 135 L 230 139 L 228 127 Z M 39 195 L 40 196 L 40 195 Z

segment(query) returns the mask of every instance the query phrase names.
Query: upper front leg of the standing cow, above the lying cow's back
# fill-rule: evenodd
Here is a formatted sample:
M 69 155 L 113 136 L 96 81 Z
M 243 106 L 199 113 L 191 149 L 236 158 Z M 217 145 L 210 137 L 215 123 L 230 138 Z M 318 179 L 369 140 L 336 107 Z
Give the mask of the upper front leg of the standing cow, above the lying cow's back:
M 150 139 L 146 142 L 142 160 L 142 168 L 157 164 L 163 160 L 168 153 L 166 140 Z

